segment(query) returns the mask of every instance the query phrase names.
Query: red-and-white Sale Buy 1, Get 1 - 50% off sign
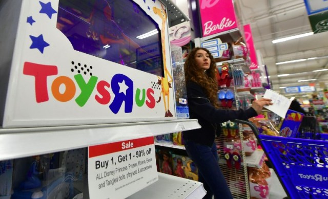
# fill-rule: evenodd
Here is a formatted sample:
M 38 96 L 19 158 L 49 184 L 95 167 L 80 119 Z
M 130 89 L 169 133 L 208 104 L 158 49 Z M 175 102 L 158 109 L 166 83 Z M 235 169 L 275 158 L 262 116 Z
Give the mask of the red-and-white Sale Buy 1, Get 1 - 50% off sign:
M 90 198 L 126 198 L 157 180 L 153 137 L 89 146 Z

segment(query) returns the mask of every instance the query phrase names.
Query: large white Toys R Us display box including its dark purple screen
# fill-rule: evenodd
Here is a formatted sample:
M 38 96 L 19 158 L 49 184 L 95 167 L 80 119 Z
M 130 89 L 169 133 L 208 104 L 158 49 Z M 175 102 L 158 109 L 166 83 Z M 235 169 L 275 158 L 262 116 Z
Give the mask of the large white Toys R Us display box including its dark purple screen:
M 160 1 L 1 5 L 3 127 L 176 119 Z M 144 35 L 151 30 L 158 34 Z

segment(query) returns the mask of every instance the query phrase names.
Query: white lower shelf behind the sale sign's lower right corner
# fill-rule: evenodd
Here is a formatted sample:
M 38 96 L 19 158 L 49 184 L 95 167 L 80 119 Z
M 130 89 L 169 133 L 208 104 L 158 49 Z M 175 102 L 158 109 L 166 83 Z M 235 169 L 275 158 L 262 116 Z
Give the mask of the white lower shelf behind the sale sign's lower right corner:
M 128 197 L 144 198 L 202 198 L 206 194 L 203 184 L 177 176 L 158 173 L 158 181 Z

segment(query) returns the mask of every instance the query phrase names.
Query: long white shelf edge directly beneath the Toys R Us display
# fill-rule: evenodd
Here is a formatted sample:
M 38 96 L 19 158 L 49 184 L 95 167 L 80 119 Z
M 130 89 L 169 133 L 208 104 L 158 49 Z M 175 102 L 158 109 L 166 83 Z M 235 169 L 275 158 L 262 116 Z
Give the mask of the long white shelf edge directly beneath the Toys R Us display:
M 195 119 L 35 128 L 0 128 L 0 160 L 200 128 Z

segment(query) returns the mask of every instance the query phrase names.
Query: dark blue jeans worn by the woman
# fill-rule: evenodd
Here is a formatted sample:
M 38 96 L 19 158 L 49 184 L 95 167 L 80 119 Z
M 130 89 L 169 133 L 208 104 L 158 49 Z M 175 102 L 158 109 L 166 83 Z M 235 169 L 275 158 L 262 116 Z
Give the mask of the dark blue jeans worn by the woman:
M 219 157 L 215 143 L 212 147 L 185 140 L 189 158 L 198 168 L 198 181 L 203 183 L 206 196 L 203 199 L 233 198 L 222 171 L 219 167 Z

